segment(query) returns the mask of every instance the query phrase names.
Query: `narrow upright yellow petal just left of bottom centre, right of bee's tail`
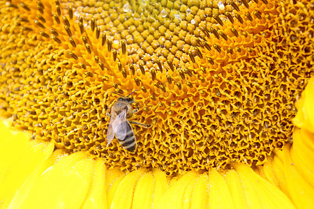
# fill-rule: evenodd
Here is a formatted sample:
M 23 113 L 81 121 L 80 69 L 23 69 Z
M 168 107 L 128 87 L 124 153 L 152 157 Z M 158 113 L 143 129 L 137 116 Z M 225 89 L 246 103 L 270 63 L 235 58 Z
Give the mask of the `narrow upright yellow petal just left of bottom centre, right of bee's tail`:
M 154 187 L 154 178 L 151 173 L 144 173 L 136 185 L 132 208 L 151 208 Z

